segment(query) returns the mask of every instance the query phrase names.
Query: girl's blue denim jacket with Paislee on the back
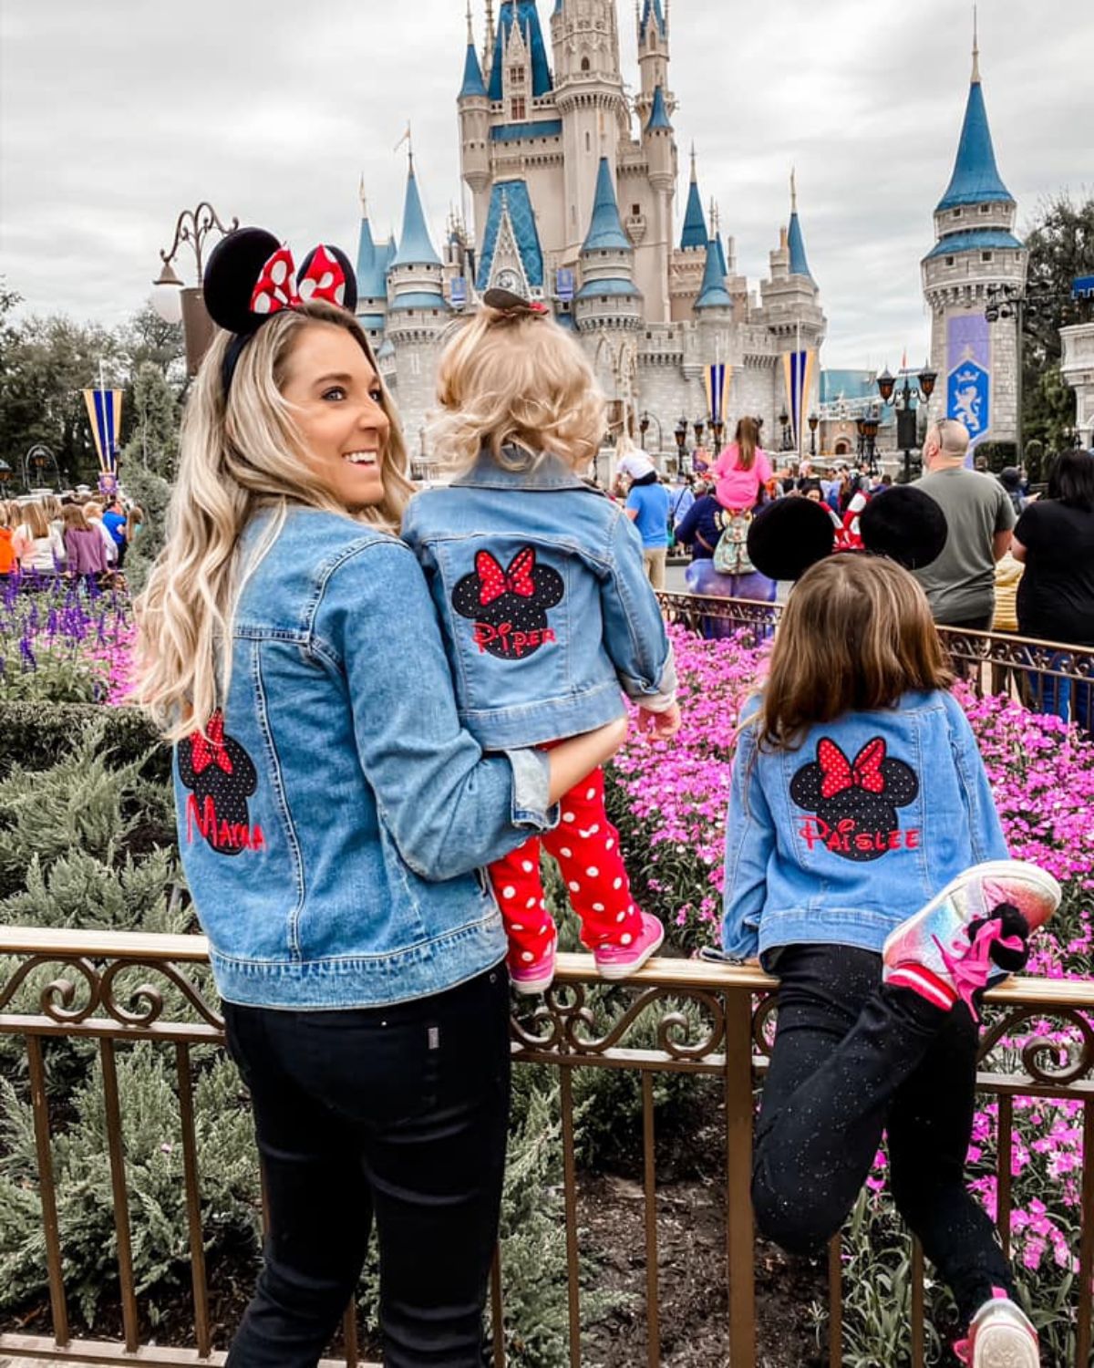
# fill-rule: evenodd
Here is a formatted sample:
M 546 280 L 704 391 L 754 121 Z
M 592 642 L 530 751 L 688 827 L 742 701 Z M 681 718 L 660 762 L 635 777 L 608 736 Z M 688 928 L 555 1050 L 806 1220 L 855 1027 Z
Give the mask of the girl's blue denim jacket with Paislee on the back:
M 755 715 L 751 700 L 743 718 Z M 722 947 L 881 951 L 956 874 L 1008 859 L 972 728 L 949 694 L 810 728 L 793 751 L 741 731 L 726 821 Z

